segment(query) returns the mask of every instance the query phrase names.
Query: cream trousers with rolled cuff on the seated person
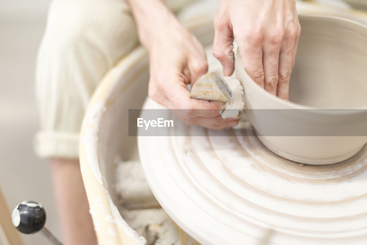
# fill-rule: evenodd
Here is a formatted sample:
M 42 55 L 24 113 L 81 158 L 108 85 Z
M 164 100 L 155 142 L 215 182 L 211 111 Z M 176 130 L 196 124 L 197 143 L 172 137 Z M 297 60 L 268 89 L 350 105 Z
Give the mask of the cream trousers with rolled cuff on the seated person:
M 193 0 L 168 0 L 177 12 Z M 138 45 L 123 0 L 54 0 L 36 64 L 40 157 L 75 159 L 84 112 L 103 75 Z

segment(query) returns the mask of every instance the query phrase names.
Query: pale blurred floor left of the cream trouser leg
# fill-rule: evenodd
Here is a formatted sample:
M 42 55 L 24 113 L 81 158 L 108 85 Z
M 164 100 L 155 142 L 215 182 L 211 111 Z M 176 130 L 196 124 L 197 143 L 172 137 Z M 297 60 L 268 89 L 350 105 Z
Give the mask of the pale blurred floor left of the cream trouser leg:
M 61 238 L 50 167 L 32 148 L 38 128 L 34 65 L 45 23 L 46 11 L 23 19 L 0 17 L 0 188 L 11 210 L 23 200 L 42 203 L 46 227 Z M 40 234 L 22 238 L 26 245 L 49 244 Z

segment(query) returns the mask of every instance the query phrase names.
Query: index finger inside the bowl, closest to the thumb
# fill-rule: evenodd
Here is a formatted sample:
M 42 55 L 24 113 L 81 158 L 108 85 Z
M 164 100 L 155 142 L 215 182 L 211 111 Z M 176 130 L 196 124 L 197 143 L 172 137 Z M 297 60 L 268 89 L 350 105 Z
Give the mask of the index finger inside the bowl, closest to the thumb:
M 264 88 L 264 69 L 262 66 L 261 38 L 237 38 L 243 68 L 248 76 L 261 88 Z

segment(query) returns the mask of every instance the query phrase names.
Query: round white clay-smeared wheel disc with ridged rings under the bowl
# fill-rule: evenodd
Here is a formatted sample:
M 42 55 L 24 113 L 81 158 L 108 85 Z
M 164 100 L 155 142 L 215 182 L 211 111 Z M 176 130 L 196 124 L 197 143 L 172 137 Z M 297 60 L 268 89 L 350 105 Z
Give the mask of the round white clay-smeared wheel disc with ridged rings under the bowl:
M 162 107 L 148 99 L 144 108 Z M 251 126 L 214 131 L 175 120 L 167 130 L 139 137 L 143 169 L 164 210 L 200 243 L 367 244 L 366 146 L 316 166 L 277 156 Z

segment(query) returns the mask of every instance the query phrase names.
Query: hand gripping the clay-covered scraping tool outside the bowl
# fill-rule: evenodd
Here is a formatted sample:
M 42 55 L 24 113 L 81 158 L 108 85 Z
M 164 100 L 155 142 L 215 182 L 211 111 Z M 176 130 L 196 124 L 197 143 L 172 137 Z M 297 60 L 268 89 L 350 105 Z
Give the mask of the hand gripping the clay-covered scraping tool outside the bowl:
M 236 118 L 223 119 L 222 103 L 191 99 L 187 84 L 208 71 L 206 54 L 199 41 L 166 12 L 140 28 L 139 38 L 149 51 L 149 97 L 164 105 L 188 125 L 223 129 L 238 124 Z

